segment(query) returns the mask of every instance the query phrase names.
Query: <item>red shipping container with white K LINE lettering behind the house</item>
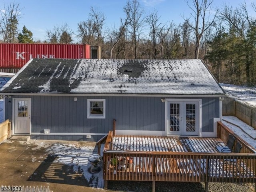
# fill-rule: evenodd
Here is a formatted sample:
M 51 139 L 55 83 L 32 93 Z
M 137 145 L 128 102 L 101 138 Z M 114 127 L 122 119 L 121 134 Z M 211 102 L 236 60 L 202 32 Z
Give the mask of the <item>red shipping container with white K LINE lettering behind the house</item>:
M 89 59 L 90 45 L 0 43 L 0 68 L 22 68 L 32 58 Z

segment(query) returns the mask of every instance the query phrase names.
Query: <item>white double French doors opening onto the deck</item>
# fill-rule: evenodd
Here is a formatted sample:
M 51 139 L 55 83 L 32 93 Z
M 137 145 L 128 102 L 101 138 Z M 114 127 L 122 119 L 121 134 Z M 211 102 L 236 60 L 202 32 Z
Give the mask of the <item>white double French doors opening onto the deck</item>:
M 167 135 L 198 135 L 200 101 L 167 101 Z

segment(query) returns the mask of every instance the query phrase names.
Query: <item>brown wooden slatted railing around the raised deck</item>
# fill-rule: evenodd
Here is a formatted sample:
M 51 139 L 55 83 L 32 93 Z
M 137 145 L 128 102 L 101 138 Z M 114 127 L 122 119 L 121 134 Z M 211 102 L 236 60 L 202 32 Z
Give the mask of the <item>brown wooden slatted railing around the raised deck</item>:
M 232 131 L 218 123 L 224 142 Z M 236 135 L 234 135 L 236 137 Z M 241 153 L 112 150 L 110 131 L 104 150 L 104 180 L 256 182 L 256 154 L 240 138 Z

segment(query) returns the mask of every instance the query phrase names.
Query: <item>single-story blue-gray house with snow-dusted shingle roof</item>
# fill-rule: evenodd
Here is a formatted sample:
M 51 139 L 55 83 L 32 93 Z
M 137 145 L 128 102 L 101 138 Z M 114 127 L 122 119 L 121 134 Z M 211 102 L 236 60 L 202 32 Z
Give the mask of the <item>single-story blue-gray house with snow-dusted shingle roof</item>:
M 12 134 L 216 137 L 224 90 L 201 60 L 32 59 L 1 90 Z

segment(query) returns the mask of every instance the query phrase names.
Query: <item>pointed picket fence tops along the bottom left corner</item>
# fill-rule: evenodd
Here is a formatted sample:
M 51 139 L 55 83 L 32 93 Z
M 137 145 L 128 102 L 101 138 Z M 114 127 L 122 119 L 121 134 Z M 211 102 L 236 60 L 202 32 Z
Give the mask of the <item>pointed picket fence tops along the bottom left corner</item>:
M 1 186 L 0 192 L 52 192 L 49 186 Z

